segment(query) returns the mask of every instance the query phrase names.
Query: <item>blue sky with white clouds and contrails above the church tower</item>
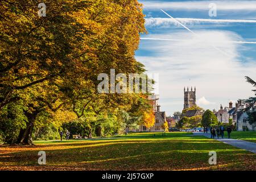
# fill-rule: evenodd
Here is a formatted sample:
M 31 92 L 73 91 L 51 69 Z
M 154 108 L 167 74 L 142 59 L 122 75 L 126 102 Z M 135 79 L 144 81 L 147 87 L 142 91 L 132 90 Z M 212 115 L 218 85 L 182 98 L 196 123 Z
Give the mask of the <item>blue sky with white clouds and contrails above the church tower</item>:
M 256 80 L 256 1 L 139 2 L 148 34 L 136 58 L 148 73 L 159 74 L 159 104 L 167 115 L 183 109 L 184 86 L 196 86 L 204 109 L 253 96 L 244 76 Z M 217 16 L 209 16 L 210 3 Z

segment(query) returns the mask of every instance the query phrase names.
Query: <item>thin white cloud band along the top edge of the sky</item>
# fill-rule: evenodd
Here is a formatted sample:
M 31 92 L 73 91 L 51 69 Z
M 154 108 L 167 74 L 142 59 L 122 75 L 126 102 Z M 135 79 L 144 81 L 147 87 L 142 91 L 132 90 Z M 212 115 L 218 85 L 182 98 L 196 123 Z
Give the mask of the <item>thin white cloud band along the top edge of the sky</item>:
M 144 9 L 164 10 L 209 10 L 210 3 L 216 3 L 217 10 L 256 10 L 256 1 L 140 1 Z

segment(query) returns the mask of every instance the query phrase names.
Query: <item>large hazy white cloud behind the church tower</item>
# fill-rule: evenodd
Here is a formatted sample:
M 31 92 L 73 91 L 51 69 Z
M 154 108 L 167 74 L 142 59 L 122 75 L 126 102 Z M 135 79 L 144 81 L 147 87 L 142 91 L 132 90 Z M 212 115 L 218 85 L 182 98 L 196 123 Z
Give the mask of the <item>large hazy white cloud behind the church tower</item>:
M 196 86 L 197 98 L 210 98 L 212 103 L 204 109 L 218 108 L 221 103 L 228 105 L 229 100 L 247 98 L 253 94 L 244 76 L 256 78 L 255 60 L 242 64 L 239 60 L 242 44 L 233 43 L 243 39 L 231 31 L 195 32 L 199 36 L 187 30 L 144 36 L 180 41 L 141 40 L 140 50 L 150 54 L 136 58 L 146 66 L 148 72 L 159 73 L 159 104 L 168 115 L 175 110 L 182 110 L 183 104 L 168 107 L 163 100 L 180 98 L 183 103 L 184 86 Z

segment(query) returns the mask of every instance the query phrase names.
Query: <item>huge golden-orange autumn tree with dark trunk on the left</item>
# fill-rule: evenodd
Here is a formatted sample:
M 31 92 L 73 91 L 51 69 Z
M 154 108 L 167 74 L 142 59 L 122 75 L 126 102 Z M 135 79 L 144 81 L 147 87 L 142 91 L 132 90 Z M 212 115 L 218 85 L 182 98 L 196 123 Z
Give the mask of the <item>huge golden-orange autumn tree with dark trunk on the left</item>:
M 38 16 L 37 6 L 29 0 L 0 2 L 0 109 L 22 102 L 27 119 L 18 143 L 26 144 L 42 112 L 65 106 L 79 118 L 87 109 L 97 114 L 122 105 L 118 98 L 98 96 L 99 73 L 144 71 L 134 58 L 145 32 L 137 1 L 50 0 L 46 17 Z

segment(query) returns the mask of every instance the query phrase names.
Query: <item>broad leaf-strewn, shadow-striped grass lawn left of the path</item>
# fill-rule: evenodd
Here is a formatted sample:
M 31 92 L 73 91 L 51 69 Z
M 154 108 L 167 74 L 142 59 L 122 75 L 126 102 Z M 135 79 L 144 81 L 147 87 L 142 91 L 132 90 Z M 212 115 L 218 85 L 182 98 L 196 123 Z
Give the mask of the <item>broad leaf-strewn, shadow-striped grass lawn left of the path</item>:
M 46 152 L 45 166 L 37 163 Z M 209 151 L 217 165 L 209 165 Z M 256 154 L 192 133 L 139 133 L 101 139 L 36 141 L 0 146 L 0 169 L 9 170 L 256 170 Z

